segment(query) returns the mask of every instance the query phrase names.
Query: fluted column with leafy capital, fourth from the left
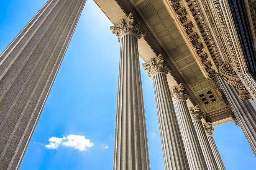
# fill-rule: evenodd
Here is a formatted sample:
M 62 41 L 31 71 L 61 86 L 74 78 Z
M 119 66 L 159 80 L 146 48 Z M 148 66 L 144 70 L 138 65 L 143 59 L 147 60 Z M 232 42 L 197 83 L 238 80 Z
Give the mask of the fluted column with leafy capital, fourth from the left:
M 182 135 L 190 170 L 207 170 L 204 155 L 187 107 L 189 94 L 182 84 L 171 88 L 172 100 Z

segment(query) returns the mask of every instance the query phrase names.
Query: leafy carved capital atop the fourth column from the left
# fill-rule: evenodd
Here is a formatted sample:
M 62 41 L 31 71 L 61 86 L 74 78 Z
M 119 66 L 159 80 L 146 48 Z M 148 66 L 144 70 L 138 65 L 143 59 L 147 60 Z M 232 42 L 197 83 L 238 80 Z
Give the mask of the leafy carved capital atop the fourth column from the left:
M 174 101 L 187 100 L 189 98 L 189 93 L 184 89 L 184 86 L 182 85 L 182 83 L 180 83 L 176 87 L 172 87 L 171 94 L 172 94 L 172 99 Z

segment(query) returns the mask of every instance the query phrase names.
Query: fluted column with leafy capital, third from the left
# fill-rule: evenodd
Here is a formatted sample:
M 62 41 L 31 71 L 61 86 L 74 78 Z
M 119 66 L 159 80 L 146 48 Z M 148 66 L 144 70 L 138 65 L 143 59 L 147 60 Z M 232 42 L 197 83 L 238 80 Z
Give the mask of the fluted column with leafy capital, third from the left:
M 154 84 L 165 170 L 188 170 L 189 165 L 166 78 L 169 68 L 161 54 L 142 66 L 148 71 Z

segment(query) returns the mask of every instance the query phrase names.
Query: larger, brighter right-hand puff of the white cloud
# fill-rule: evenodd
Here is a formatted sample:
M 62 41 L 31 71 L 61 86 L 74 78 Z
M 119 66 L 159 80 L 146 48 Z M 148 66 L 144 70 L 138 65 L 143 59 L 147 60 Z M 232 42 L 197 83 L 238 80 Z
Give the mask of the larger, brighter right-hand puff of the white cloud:
M 62 145 L 71 146 L 80 151 L 86 150 L 94 145 L 89 139 L 86 139 L 82 135 L 68 135 L 67 140 L 68 141 L 63 142 Z

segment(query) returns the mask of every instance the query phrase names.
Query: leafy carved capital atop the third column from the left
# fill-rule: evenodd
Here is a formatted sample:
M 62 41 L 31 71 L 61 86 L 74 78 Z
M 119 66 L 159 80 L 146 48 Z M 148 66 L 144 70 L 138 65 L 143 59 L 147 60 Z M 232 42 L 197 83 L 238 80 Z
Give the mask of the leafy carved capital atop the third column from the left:
M 143 63 L 142 67 L 147 70 L 149 77 L 153 77 L 156 72 L 168 74 L 171 70 L 164 61 L 162 54 L 159 54 L 156 58 L 151 58 L 149 62 Z

